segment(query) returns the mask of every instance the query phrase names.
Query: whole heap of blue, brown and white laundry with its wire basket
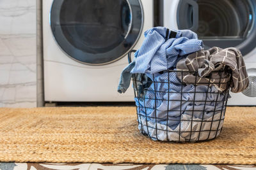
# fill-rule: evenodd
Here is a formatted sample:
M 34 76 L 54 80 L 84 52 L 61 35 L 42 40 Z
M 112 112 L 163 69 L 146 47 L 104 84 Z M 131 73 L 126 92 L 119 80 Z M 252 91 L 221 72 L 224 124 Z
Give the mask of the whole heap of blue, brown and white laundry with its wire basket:
M 161 141 L 216 138 L 229 90 L 248 87 L 241 52 L 204 50 L 203 42 L 189 30 L 154 27 L 144 35 L 118 85 L 118 92 L 124 93 L 134 76 L 139 130 Z

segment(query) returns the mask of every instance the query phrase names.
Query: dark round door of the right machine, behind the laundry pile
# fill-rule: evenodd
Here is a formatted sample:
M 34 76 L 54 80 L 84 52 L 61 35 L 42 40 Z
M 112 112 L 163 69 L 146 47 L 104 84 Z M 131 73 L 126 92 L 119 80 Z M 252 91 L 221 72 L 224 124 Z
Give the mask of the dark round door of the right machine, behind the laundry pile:
M 255 0 L 180 0 L 179 29 L 191 29 L 210 46 L 236 46 L 243 55 L 255 47 Z

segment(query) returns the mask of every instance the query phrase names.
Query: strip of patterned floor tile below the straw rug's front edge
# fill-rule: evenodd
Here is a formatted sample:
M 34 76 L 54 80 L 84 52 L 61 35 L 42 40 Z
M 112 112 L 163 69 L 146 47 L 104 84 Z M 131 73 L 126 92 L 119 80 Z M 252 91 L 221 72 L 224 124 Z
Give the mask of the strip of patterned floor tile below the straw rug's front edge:
M 239 166 L 239 165 L 198 165 L 198 164 L 191 164 L 191 165 L 181 165 L 181 164 L 82 164 L 82 163 L 70 163 L 70 164 L 53 164 L 53 163 L 15 163 L 15 162 L 1 162 L 0 163 L 1 170 L 53 170 L 53 169 L 76 169 L 76 170 L 252 170 L 256 169 L 256 166 Z

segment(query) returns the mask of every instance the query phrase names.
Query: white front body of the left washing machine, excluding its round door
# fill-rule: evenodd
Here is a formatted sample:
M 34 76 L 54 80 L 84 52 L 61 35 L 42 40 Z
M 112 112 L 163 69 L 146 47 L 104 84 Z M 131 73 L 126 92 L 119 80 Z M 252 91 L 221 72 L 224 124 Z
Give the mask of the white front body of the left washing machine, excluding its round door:
M 52 3 L 53 0 L 43 1 L 45 101 L 134 101 L 131 85 L 125 94 L 117 92 L 120 73 L 128 64 L 127 53 L 121 59 L 102 66 L 92 66 L 72 59 L 60 48 L 52 34 Z M 153 26 L 153 1 L 141 0 L 140 3 L 143 8 L 143 25 L 140 37 L 131 50 L 141 46 L 143 32 Z

